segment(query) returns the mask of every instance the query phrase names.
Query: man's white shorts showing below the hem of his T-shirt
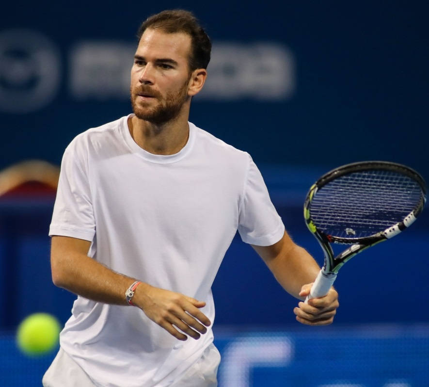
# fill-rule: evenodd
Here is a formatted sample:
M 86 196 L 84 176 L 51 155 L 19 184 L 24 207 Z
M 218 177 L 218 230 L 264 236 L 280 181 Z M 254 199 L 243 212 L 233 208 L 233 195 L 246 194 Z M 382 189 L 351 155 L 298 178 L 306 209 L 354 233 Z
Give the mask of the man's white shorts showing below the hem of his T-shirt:
M 171 387 L 216 387 L 221 355 L 210 344 L 195 362 Z M 88 374 L 60 347 L 42 379 L 44 387 L 95 387 Z

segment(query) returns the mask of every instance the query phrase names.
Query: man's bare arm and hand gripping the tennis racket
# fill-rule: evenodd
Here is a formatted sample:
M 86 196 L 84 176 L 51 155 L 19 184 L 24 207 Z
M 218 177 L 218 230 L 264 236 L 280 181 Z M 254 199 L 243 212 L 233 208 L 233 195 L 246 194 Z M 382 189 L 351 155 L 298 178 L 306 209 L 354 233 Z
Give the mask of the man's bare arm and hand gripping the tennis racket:
M 310 254 L 295 244 L 286 233 L 271 246 L 252 245 L 264 260 L 280 285 L 294 297 L 304 300 L 310 293 L 320 267 Z M 338 308 L 338 293 L 334 288 L 320 298 L 300 302 L 294 308 L 296 319 L 307 325 L 328 325 L 334 321 Z

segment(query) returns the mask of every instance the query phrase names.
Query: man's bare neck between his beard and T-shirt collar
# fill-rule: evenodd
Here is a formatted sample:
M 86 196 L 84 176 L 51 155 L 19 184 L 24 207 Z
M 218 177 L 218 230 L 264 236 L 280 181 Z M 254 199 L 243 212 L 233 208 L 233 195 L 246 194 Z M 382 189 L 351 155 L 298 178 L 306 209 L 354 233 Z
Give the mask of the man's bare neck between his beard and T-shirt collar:
M 155 155 L 174 155 L 188 142 L 187 119 L 177 119 L 154 125 L 133 115 L 128 118 L 128 129 L 137 145 Z

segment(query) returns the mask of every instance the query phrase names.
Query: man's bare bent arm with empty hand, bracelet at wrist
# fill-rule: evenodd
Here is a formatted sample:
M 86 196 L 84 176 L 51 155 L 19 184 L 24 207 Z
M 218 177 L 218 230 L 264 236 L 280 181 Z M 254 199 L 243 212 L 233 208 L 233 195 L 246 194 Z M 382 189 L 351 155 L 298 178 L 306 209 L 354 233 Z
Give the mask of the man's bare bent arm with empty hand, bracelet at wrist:
M 116 273 L 87 256 L 91 242 L 64 236 L 53 236 L 51 271 L 53 283 L 82 297 L 106 304 L 128 305 L 125 292 L 134 278 Z M 159 289 L 142 282 L 132 300 L 147 317 L 179 340 L 194 339 L 206 333 L 210 321 L 199 310 L 205 302 Z M 200 323 L 201 322 L 201 323 Z M 204 325 L 203 325 L 203 324 Z

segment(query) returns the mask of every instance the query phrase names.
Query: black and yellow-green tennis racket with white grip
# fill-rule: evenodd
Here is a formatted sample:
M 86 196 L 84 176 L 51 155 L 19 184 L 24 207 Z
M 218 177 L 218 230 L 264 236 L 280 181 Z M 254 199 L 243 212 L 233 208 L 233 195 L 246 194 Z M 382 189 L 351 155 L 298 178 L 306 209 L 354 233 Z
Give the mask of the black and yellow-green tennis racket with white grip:
M 350 258 L 409 227 L 425 202 L 423 178 L 393 162 L 355 162 L 320 177 L 305 199 L 304 218 L 325 261 L 305 302 L 326 295 Z M 350 247 L 334 257 L 332 243 Z

